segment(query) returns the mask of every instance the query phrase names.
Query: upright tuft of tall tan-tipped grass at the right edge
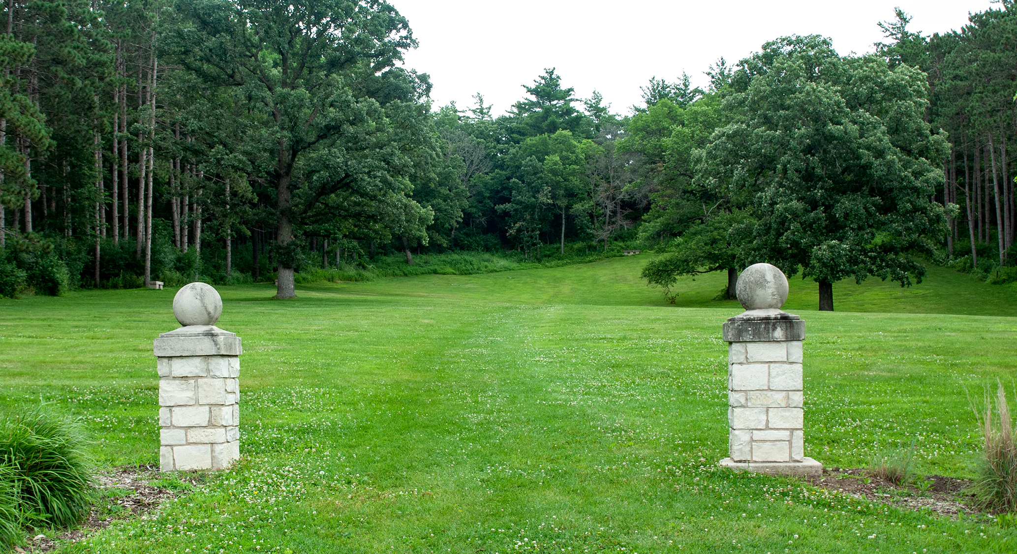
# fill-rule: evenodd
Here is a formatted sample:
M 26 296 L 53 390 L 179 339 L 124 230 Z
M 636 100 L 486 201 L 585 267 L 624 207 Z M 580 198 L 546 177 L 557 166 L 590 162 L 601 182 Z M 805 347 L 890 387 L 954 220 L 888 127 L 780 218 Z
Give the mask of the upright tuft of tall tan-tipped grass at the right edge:
M 988 390 L 983 413 L 973 403 L 971 406 L 985 440 L 984 458 L 973 489 L 981 508 L 1011 512 L 1017 511 L 1017 445 L 1007 393 L 1003 382 L 998 383 L 995 410 Z

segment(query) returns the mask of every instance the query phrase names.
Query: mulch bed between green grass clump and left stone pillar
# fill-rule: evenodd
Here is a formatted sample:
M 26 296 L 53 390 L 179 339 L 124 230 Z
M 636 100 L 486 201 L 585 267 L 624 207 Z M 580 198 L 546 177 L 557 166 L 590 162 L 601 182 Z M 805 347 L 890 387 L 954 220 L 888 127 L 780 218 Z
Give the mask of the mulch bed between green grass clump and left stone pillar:
M 156 466 L 130 466 L 118 468 L 112 472 L 101 473 L 96 476 L 96 486 L 99 489 L 120 489 L 126 494 L 116 497 L 113 503 L 120 507 L 113 514 L 109 513 L 107 506 L 94 506 L 88 517 L 77 528 L 60 534 L 56 539 L 51 539 L 45 535 L 36 535 L 26 539 L 27 550 L 21 547 L 14 547 L 14 552 L 18 554 L 25 552 L 49 552 L 55 550 L 58 544 L 76 542 L 95 533 L 98 530 L 109 527 L 116 519 L 128 517 L 144 517 L 145 514 L 178 494 L 178 491 L 162 489 L 149 485 L 153 481 L 159 481 L 165 476 L 159 473 Z M 178 474 L 181 480 L 197 483 L 196 476 Z M 110 498 L 113 500 L 113 498 Z M 112 507 L 112 505 L 108 505 Z M 106 513 L 104 513 L 106 512 Z

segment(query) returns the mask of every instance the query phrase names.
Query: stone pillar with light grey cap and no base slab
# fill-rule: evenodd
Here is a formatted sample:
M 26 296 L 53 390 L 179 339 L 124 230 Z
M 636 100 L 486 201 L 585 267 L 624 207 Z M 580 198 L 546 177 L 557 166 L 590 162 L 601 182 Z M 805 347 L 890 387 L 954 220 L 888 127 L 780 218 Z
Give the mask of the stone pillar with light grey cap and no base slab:
M 240 337 L 216 326 L 223 300 L 191 283 L 173 299 L 182 327 L 155 341 L 160 468 L 222 470 L 240 458 Z

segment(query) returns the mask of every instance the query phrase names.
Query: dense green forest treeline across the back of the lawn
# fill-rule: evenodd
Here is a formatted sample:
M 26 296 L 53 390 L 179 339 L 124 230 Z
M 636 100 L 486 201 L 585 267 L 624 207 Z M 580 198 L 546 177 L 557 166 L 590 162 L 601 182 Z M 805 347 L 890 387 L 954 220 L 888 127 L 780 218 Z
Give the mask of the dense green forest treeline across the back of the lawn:
M 908 285 L 922 257 L 1011 274 L 1010 0 L 944 35 L 898 10 L 864 56 L 777 39 L 706 89 L 651 79 L 626 115 L 554 69 L 504 115 L 432 106 L 379 0 L 4 8 L 0 296 L 200 278 L 289 298 L 297 271 L 381 255 L 622 245 L 663 253 L 644 276 L 672 298 L 755 261 L 825 309 L 832 283 Z

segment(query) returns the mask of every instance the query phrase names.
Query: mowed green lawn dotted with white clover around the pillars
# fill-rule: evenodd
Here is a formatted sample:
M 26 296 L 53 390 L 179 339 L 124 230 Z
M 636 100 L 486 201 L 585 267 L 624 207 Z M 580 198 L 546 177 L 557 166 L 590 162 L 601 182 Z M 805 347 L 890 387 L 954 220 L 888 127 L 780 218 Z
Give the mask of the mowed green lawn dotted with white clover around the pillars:
M 69 552 L 1014 552 L 1017 529 L 735 474 L 725 275 L 675 305 L 646 256 L 554 269 L 220 287 L 243 337 L 241 453 L 148 518 Z M 80 416 L 102 468 L 158 464 L 152 340 L 175 291 L 0 301 L 0 408 Z M 806 321 L 805 453 L 864 467 L 914 444 L 973 476 L 980 398 L 1017 376 L 1017 299 L 930 268 L 910 289 L 791 280 Z M 1013 394 L 1011 394 L 1013 397 Z M 166 486 L 185 485 L 168 479 Z

